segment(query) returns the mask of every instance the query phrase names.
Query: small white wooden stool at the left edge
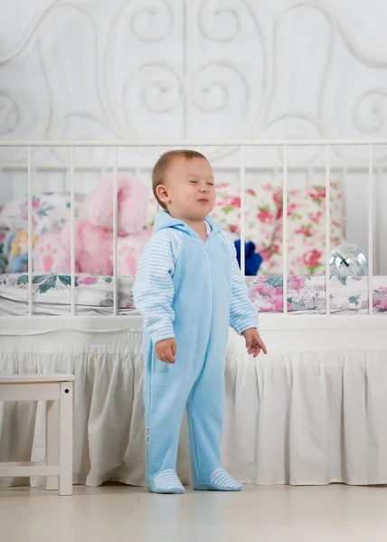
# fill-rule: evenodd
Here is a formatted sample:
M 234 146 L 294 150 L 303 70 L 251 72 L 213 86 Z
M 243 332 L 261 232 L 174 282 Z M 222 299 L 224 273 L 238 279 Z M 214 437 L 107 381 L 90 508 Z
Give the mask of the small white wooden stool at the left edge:
M 46 490 L 72 495 L 73 381 L 73 375 L 0 376 L 0 401 L 46 401 L 45 463 L 0 463 L 0 477 L 46 476 Z

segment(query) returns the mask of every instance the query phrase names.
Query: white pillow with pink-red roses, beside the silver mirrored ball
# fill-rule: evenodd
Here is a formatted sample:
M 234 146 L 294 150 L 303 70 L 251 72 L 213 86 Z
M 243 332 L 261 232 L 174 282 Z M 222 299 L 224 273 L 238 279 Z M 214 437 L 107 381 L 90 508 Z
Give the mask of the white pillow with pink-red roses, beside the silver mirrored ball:
M 282 192 L 276 194 L 278 220 L 260 275 L 282 275 Z M 345 212 L 339 182 L 331 182 L 331 249 L 345 240 Z M 326 264 L 326 188 L 288 192 L 288 275 L 324 275 Z

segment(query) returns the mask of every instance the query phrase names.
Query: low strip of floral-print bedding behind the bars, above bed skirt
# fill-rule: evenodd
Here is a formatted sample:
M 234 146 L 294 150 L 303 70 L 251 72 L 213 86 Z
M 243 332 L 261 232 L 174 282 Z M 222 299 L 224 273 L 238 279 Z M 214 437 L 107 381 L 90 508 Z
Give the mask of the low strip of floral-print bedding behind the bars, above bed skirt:
M 76 313 L 109 315 L 113 313 L 113 278 L 111 276 L 76 276 Z M 118 314 L 137 314 L 132 288 L 133 276 L 118 277 Z M 281 276 L 246 277 L 250 299 L 260 313 L 281 313 L 283 281 Z M 368 313 L 368 278 L 347 277 L 343 282 L 331 279 L 332 313 Z M 387 311 L 387 276 L 373 277 L 373 313 Z M 71 313 L 70 277 L 33 274 L 33 314 L 66 315 Z M 326 313 L 324 276 L 291 276 L 288 279 L 288 313 Z M 28 276 L 0 275 L 0 316 L 28 314 Z

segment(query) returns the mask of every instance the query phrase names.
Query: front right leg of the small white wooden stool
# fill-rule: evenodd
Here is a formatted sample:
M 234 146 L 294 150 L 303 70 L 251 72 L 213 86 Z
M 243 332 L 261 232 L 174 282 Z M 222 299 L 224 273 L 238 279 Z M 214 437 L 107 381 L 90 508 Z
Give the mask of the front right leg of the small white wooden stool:
M 72 382 L 61 382 L 59 494 L 72 495 Z

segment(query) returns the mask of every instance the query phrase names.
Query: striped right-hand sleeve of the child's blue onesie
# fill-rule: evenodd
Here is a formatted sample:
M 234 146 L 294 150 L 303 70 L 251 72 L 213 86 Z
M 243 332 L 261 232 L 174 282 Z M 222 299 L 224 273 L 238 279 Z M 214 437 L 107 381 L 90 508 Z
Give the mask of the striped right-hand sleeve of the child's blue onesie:
M 251 303 L 246 283 L 241 276 L 241 269 L 238 265 L 235 246 L 229 235 L 227 245 L 231 255 L 231 304 L 230 304 L 230 325 L 237 333 L 244 332 L 251 328 L 258 328 L 258 311 Z

